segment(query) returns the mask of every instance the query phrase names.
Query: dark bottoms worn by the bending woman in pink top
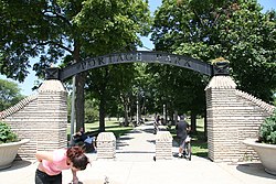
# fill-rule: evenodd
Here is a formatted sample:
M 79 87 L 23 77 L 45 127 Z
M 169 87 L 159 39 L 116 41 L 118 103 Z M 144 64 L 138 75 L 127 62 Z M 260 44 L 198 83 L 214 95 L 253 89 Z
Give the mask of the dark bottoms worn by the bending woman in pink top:
M 57 175 L 47 175 L 46 173 L 36 170 L 35 184 L 62 184 L 62 173 Z

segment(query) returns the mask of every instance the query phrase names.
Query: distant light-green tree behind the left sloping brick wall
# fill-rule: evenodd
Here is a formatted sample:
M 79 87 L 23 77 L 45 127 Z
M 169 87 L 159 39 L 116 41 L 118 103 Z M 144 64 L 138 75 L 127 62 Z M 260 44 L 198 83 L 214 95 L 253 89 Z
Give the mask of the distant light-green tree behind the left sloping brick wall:
M 0 79 L 0 111 L 15 105 L 24 98 L 20 94 L 20 88 L 17 83 Z

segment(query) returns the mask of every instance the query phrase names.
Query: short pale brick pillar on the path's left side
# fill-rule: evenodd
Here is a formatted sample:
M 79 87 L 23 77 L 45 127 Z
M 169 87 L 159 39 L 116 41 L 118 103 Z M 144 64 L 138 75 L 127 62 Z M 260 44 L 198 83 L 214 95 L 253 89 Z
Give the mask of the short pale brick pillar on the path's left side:
M 102 132 L 97 137 L 97 159 L 115 159 L 116 138 L 113 132 Z

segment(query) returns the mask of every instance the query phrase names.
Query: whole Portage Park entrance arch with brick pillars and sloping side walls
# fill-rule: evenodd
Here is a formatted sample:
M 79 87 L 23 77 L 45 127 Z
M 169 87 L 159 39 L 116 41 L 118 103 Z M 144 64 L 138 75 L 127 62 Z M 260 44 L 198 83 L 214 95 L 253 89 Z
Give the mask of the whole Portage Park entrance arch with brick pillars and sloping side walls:
M 49 68 L 47 79 L 40 86 L 38 94 L 0 113 L 0 120 L 8 122 L 20 139 L 30 139 L 19 150 L 20 158 L 33 160 L 38 150 L 67 147 L 67 91 L 63 80 L 92 68 L 138 62 L 174 65 L 212 76 L 205 87 L 209 158 L 214 162 L 237 162 L 246 159 L 245 155 L 256 158 L 255 152 L 241 142 L 246 138 L 255 138 L 259 125 L 276 107 L 236 89 L 235 82 L 229 76 L 227 62 L 210 65 L 182 55 L 139 51 L 92 57 L 63 69 Z M 114 147 L 113 138 L 109 138 L 109 142 L 107 136 L 103 137 L 103 141 Z M 156 147 L 163 154 L 163 150 L 158 149 L 163 144 Z M 110 152 L 103 150 L 103 154 L 115 154 L 114 148 L 109 149 Z M 170 152 L 166 153 L 171 156 Z

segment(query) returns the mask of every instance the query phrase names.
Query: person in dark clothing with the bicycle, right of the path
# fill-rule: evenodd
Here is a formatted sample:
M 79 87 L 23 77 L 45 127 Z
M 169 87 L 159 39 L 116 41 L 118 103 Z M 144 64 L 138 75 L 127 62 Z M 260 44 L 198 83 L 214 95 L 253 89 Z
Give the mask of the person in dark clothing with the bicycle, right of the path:
M 185 138 L 188 136 L 188 130 L 190 129 L 189 123 L 185 121 L 184 116 L 180 116 L 180 121 L 176 126 L 177 129 L 177 137 L 180 140 L 180 145 L 179 145 L 179 158 L 182 156 L 183 150 L 185 148 Z

